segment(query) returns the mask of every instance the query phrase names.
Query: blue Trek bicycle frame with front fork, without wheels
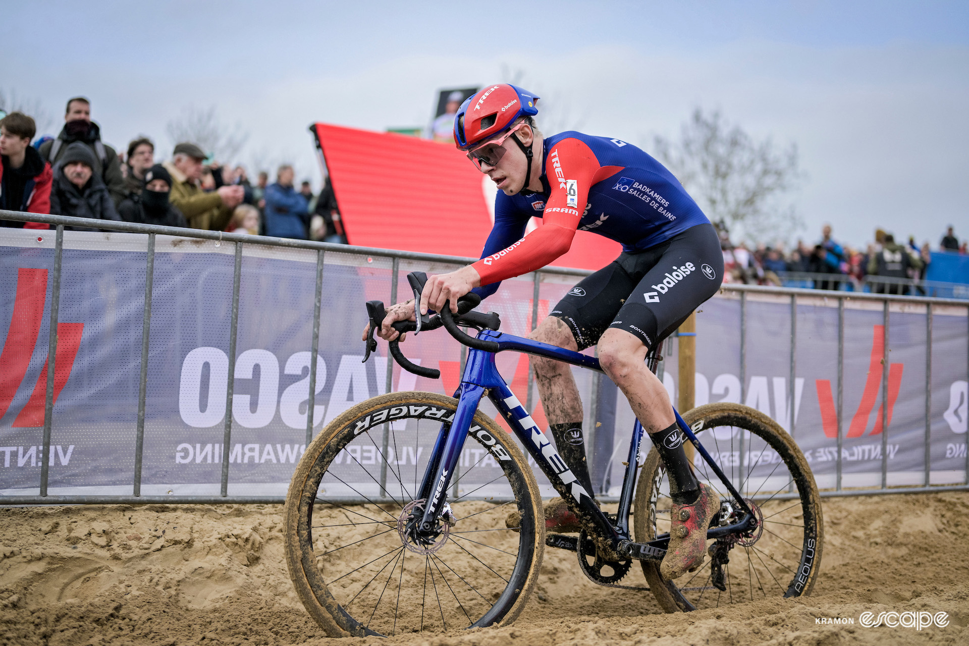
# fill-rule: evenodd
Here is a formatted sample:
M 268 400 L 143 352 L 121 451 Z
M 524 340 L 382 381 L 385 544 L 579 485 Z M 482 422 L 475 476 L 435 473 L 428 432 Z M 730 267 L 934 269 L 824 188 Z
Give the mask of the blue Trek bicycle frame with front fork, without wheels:
M 563 361 L 571 365 L 582 368 L 589 368 L 603 372 L 599 365 L 599 359 L 551 346 L 539 341 L 525 339 L 512 334 L 505 334 L 492 330 L 485 330 L 478 334 L 479 339 L 485 341 L 495 341 L 498 343 L 498 352 L 516 351 L 527 354 L 536 354 L 556 361 Z M 619 497 L 619 508 L 616 514 L 617 523 L 613 525 L 609 517 L 599 509 L 593 500 L 593 492 L 585 491 L 578 483 L 578 479 L 569 469 L 568 465 L 562 460 L 555 446 L 549 442 L 546 434 L 538 427 L 528 411 L 525 410 L 521 402 L 512 392 L 504 378 L 498 373 L 495 365 L 495 353 L 485 352 L 473 348 L 468 349 L 467 362 L 464 373 L 461 376 L 461 384 L 458 386 L 454 396 L 458 399 L 457 411 L 453 416 L 450 428 L 444 424 L 438 434 L 437 441 L 429 456 L 427 467 L 424 471 L 422 484 L 418 499 L 427 501 L 423 510 L 421 528 L 430 531 L 434 527 L 435 517 L 439 515 L 439 509 L 444 503 L 449 490 L 449 483 L 453 476 L 454 469 L 460 457 L 461 449 L 467 439 L 471 421 L 478 411 L 478 405 L 483 396 L 494 404 L 498 412 L 505 417 L 513 432 L 521 441 L 522 446 L 532 456 L 535 462 L 542 469 L 552 487 L 568 503 L 583 523 L 592 525 L 595 534 L 599 538 L 605 539 L 610 547 L 615 551 L 619 547 L 619 542 L 629 539 L 628 518 L 633 504 L 633 491 L 636 486 L 636 469 L 642 441 L 642 425 L 639 420 L 633 430 L 632 442 L 629 446 L 629 458 L 626 463 L 626 473 L 623 478 L 622 493 Z M 713 458 L 697 440 L 693 430 L 686 425 L 683 418 L 673 410 L 676 422 L 680 430 L 703 456 L 703 460 L 711 467 L 713 472 L 727 486 L 735 502 L 744 512 L 745 517 L 739 523 L 727 527 L 718 527 L 710 530 L 708 538 L 715 538 L 743 530 L 748 522 L 753 519 L 753 513 L 746 502 L 735 490 L 733 483 L 723 474 L 720 468 L 714 463 Z M 659 537 L 654 543 L 665 543 L 668 538 Z

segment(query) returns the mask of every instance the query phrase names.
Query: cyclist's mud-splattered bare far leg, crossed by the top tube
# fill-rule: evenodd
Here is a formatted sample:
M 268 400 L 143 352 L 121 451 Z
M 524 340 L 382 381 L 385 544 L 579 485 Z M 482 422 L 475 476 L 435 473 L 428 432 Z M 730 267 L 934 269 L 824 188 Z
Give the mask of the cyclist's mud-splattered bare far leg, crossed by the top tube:
M 572 330 L 561 319 L 555 317 L 547 317 L 528 335 L 528 338 L 566 350 L 578 350 Z M 578 386 L 569 364 L 541 356 L 532 356 L 531 360 L 535 367 L 535 381 L 539 386 L 539 395 L 542 397 L 548 423 L 580 423 L 582 400 L 578 396 Z M 656 378 L 653 377 L 653 379 Z

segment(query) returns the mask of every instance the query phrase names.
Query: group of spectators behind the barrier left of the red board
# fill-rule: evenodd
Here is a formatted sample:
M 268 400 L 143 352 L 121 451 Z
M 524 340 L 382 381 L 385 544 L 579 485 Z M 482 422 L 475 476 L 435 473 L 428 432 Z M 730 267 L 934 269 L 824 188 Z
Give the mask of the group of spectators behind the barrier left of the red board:
M 251 184 L 242 166 L 222 165 L 192 141 L 177 143 L 157 163 L 150 138 L 116 151 L 102 141 L 84 97 L 67 102 L 56 138 L 34 140 L 34 119 L 0 112 L 0 209 L 254 235 L 346 243 L 329 179 L 314 195 L 309 181 L 295 186 L 292 166 L 276 181 L 260 171 Z M 2 227 L 47 229 L 36 222 L 0 220 Z M 71 227 L 78 231 L 99 231 Z

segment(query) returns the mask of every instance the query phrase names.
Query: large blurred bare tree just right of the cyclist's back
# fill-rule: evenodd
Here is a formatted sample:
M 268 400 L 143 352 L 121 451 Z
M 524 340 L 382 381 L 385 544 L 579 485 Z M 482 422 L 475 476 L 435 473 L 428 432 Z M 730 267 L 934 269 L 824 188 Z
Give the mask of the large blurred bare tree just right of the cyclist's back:
M 802 227 L 794 204 L 784 200 L 805 176 L 795 143 L 779 150 L 771 138 L 755 141 L 731 126 L 719 110 L 696 108 L 679 140 L 656 136 L 653 151 L 710 220 L 739 239 L 788 239 Z

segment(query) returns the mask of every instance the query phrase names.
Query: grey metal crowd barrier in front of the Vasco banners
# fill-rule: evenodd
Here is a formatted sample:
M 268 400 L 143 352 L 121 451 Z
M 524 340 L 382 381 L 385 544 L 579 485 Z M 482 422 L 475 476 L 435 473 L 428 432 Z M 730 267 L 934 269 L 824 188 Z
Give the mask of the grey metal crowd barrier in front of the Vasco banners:
M 229 496 L 228 495 L 228 484 L 229 484 L 229 451 L 222 451 L 222 472 L 221 472 L 221 495 L 220 496 L 142 496 L 141 495 L 141 465 L 142 465 L 142 453 L 144 446 L 144 419 L 145 419 L 145 398 L 146 398 L 146 375 L 147 375 L 147 357 L 148 357 L 148 341 L 149 341 L 149 324 L 151 321 L 151 300 L 152 300 L 152 276 L 154 267 L 154 251 L 155 251 L 155 236 L 156 235 L 174 235 L 180 237 L 188 238 L 199 238 L 204 240 L 218 240 L 220 242 L 226 242 L 234 244 L 234 280 L 233 280 L 233 296 L 232 296 L 232 323 L 230 328 L 230 338 L 229 338 L 229 381 L 228 389 L 226 395 L 226 405 L 227 405 L 227 415 L 225 418 L 224 425 L 224 444 L 223 446 L 230 445 L 230 439 L 233 431 L 233 394 L 234 394 L 234 361 L 235 361 L 235 338 L 236 329 L 238 321 L 238 302 L 239 302 L 239 283 L 240 283 L 240 269 L 241 269 L 241 259 L 242 259 L 242 248 L 245 244 L 250 245 L 262 245 L 270 247 L 288 247 L 297 249 L 309 249 L 315 250 L 316 254 L 316 299 L 314 303 L 313 310 L 313 323 L 312 323 L 312 349 L 310 353 L 311 365 L 309 370 L 309 401 L 307 408 L 307 428 L 306 428 L 306 442 L 307 444 L 311 441 L 313 437 L 313 424 L 314 415 L 309 412 L 314 410 L 315 397 L 316 397 L 316 359 L 317 351 L 319 348 L 319 332 L 320 332 L 320 318 L 321 318 L 321 292 L 323 287 L 323 270 L 324 270 L 324 256 L 328 251 L 340 252 L 343 254 L 356 254 L 365 257 L 380 257 L 392 260 L 392 282 L 391 282 L 391 299 L 395 298 L 396 295 L 396 285 L 398 279 L 399 262 L 402 260 L 409 261 L 426 261 L 426 262 L 453 262 L 453 263 L 467 263 L 470 261 L 475 261 L 477 259 L 468 259 L 461 257 L 452 256 L 439 256 L 433 254 L 422 254 L 413 252 L 399 252 L 386 249 L 372 249 L 366 247 L 352 247 L 347 245 L 330 244 L 325 242 L 313 242 L 306 240 L 294 240 L 287 238 L 274 238 L 267 236 L 254 237 L 252 235 L 236 234 L 236 233 L 225 233 L 222 231 L 200 231 L 200 230 L 189 230 L 189 229 L 179 229 L 173 227 L 158 227 L 143 224 L 134 223 L 124 223 L 124 222 L 107 222 L 98 221 L 98 227 L 104 231 L 121 231 L 121 232 L 133 232 L 133 233 L 143 233 L 147 236 L 147 254 L 146 254 L 146 281 L 145 281 L 145 295 L 144 295 L 144 305 L 143 305 L 143 321 L 142 321 L 142 335 L 141 335 L 141 373 L 140 373 L 140 383 L 139 383 L 139 401 L 138 401 L 138 422 L 136 427 L 136 445 L 135 445 L 135 479 L 133 482 L 133 495 L 118 495 L 118 496 L 51 496 L 47 495 L 47 483 L 49 477 L 49 468 L 47 457 L 50 450 L 51 441 L 51 423 L 52 423 L 52 412 L 53 412 L 53 389 L 54 389 L 54 372 L 55 372 L 55 356 L 57 347 L 57 318 L 58 318 L 58 306 L 59 306 L 59 294 L 60 294 L 60 282 L 61 282 L 61 258 L 63 249 L 63 239 L 64 239 L 64 228 L 65 227 L 90 227 L 91 221 L 83 218 L 73 218 L 66 216 L 56 216 L 56 215 L 40 215 L 34 213 L 22 213 L 16 211 L 4 211 L 0 210 L 0 219 L 12 220 L 19 222 L 39 222 L 47 223 L 54 226 L 56 237 L 54 244 L 54 263 L 53 263 L 53 294 L 51 299 L 50 308 L 50 333 L 47 340 L 47 393 L 45 402 L 45 413 L 44 413 L 44 434 L 43 434 L 43 455 L 45 459 L 42 459 L 41 464 L 41 482 L 40 482 L 40 494 L 37 496 L 4 496 L 0 498 L 0 502 L 4 505 L 65 505 L 65 504 L 215 504 L 215 503 L 280 503 L 284 499 L 279 496 Z M 3 231 L 3 230 L 0 230 Z M 577 280 L 583 276 L 590 274 L 591 271 L 579 270 L 579 269 L 566 269 L 557 267 L 548 267 L 542 269 L 541 271 L 534 272 L 534 306 L 532 312 L 532 327 L 534 328 L 537 323 L 538 318 L 538 291 L 539 285 L 542 282 L 542 277 L 544 275 L 560 275 L 560 276 L 573 276 Z M 827 276 L 827 275 L 826 275 Z M 930 436 L 930 401 L 931 401 L 931 328 L 932 328 L 932 308 L 939 305 L 948 306 L 959 306 L 966 307 L 967 314 L 969 314 L 969 305 L 964 300 L 952 299 L 952 298 L 929 298 L 920 296 L 904 296 L 904 295 L 891 295 L 891 294 L 873 294 L 873 293 L 863 293 L 863 292 L 818 292 L 814 290 L 805 289 L 790 289 L 790 288 L 772 288 L 772 287 L 759 287 L 759 286 L 749 286 L 749 285 L 737 285 L 728 284 L 723 287 L 724 292 L 735 292 L 739 295 L 740 299 L 740 383 L 744 383 L 744 376 L 747 373 L 747 357 L 746 357 L 746 335 L 747 335 L 747 296 L 748 294 L 758 294 L 758 293 L 769 293 L 773 295 L 786 295 L 790 297 L 791 303 L 791 354 L 790 354 L 790 395 L 791 401 L 795 399 L 795 369 L 796 369 L 796 349 L 797 349 L 797 299 L 798 297 L 813 297 L 817 298 L 819 296 L 831 297 L 838 299 L 838 377 L 837 377 L 837 466 L 836 466 L 836 485 L 833 489 L 828 489 L 823 491 L 822 495 L 827 496 L 841 496 L 841 495 L 869 495 L 869 494 L 879 494 L 879 493 L 911 493 L 911 492 L 927 492 L 927 491 L 948 491 L 948 490 L 965 490 L 969 489 L 969 482 L 963 484 L 956 484 L 950 486 L 929 486 L 929 436 Z M 890 415 L 888 412 L 888 389 L 889 389 L 889 362 L 884 361 L 884 375 L 882 379 L 882 389 L 883 389 L 883 418 L 887 420 L 886 432 L 882 433 L 882 481 L 881 487 L 878 489 L 862 489 L 862 490 L 852 490 L 844 489 L 841 482 L 841 471 L 842 471 L 842 417 L 843 417 L 843 372 L 844 372 L 844 305 L 846 299 L 860 299 L 868 301 L 877 301 L 883 303 L 883 316 L 885 325 L 885 335 L 886 338 L 889 336 L 889 306 L 892 301 L 904 301 L 906 303 L 922 303 L 926 306 L 926 317 L 925 325 L 927 330 L 927 344 L 926 344 L 926 404 L 925 404 L 925 486 L 921 487 L 890 487 L 888 485 L 888 451 L 886 450 L 886 445 L 888 442 L 888 422 L 890 421 Z M 969 322 L 969 316 L 967 316 L 967 322 Z M 967 329 L 967 336 L 969 336 L 969 329 Z M 969 381 L 969 355 L 966 357 L 966 378 Z M 388 362 L 388 375 L 387 375 L 387 390 L 390 391 L 391 386 L 391 369 L 392 362 Z M 531 382 L 533 375 L 531 371 L 529 372 L 529 389 L 528 389 L 528 402 L 526 406 L 529 409 L 532 406 L 531 401 Z M 742 387 L 742 386 L 741 386 Z M 592 402 L 591 408 L 595 408 L 596 402 Z M 966 473 L 969 475 L 969 451 L 967 451 L 966 458 Z

